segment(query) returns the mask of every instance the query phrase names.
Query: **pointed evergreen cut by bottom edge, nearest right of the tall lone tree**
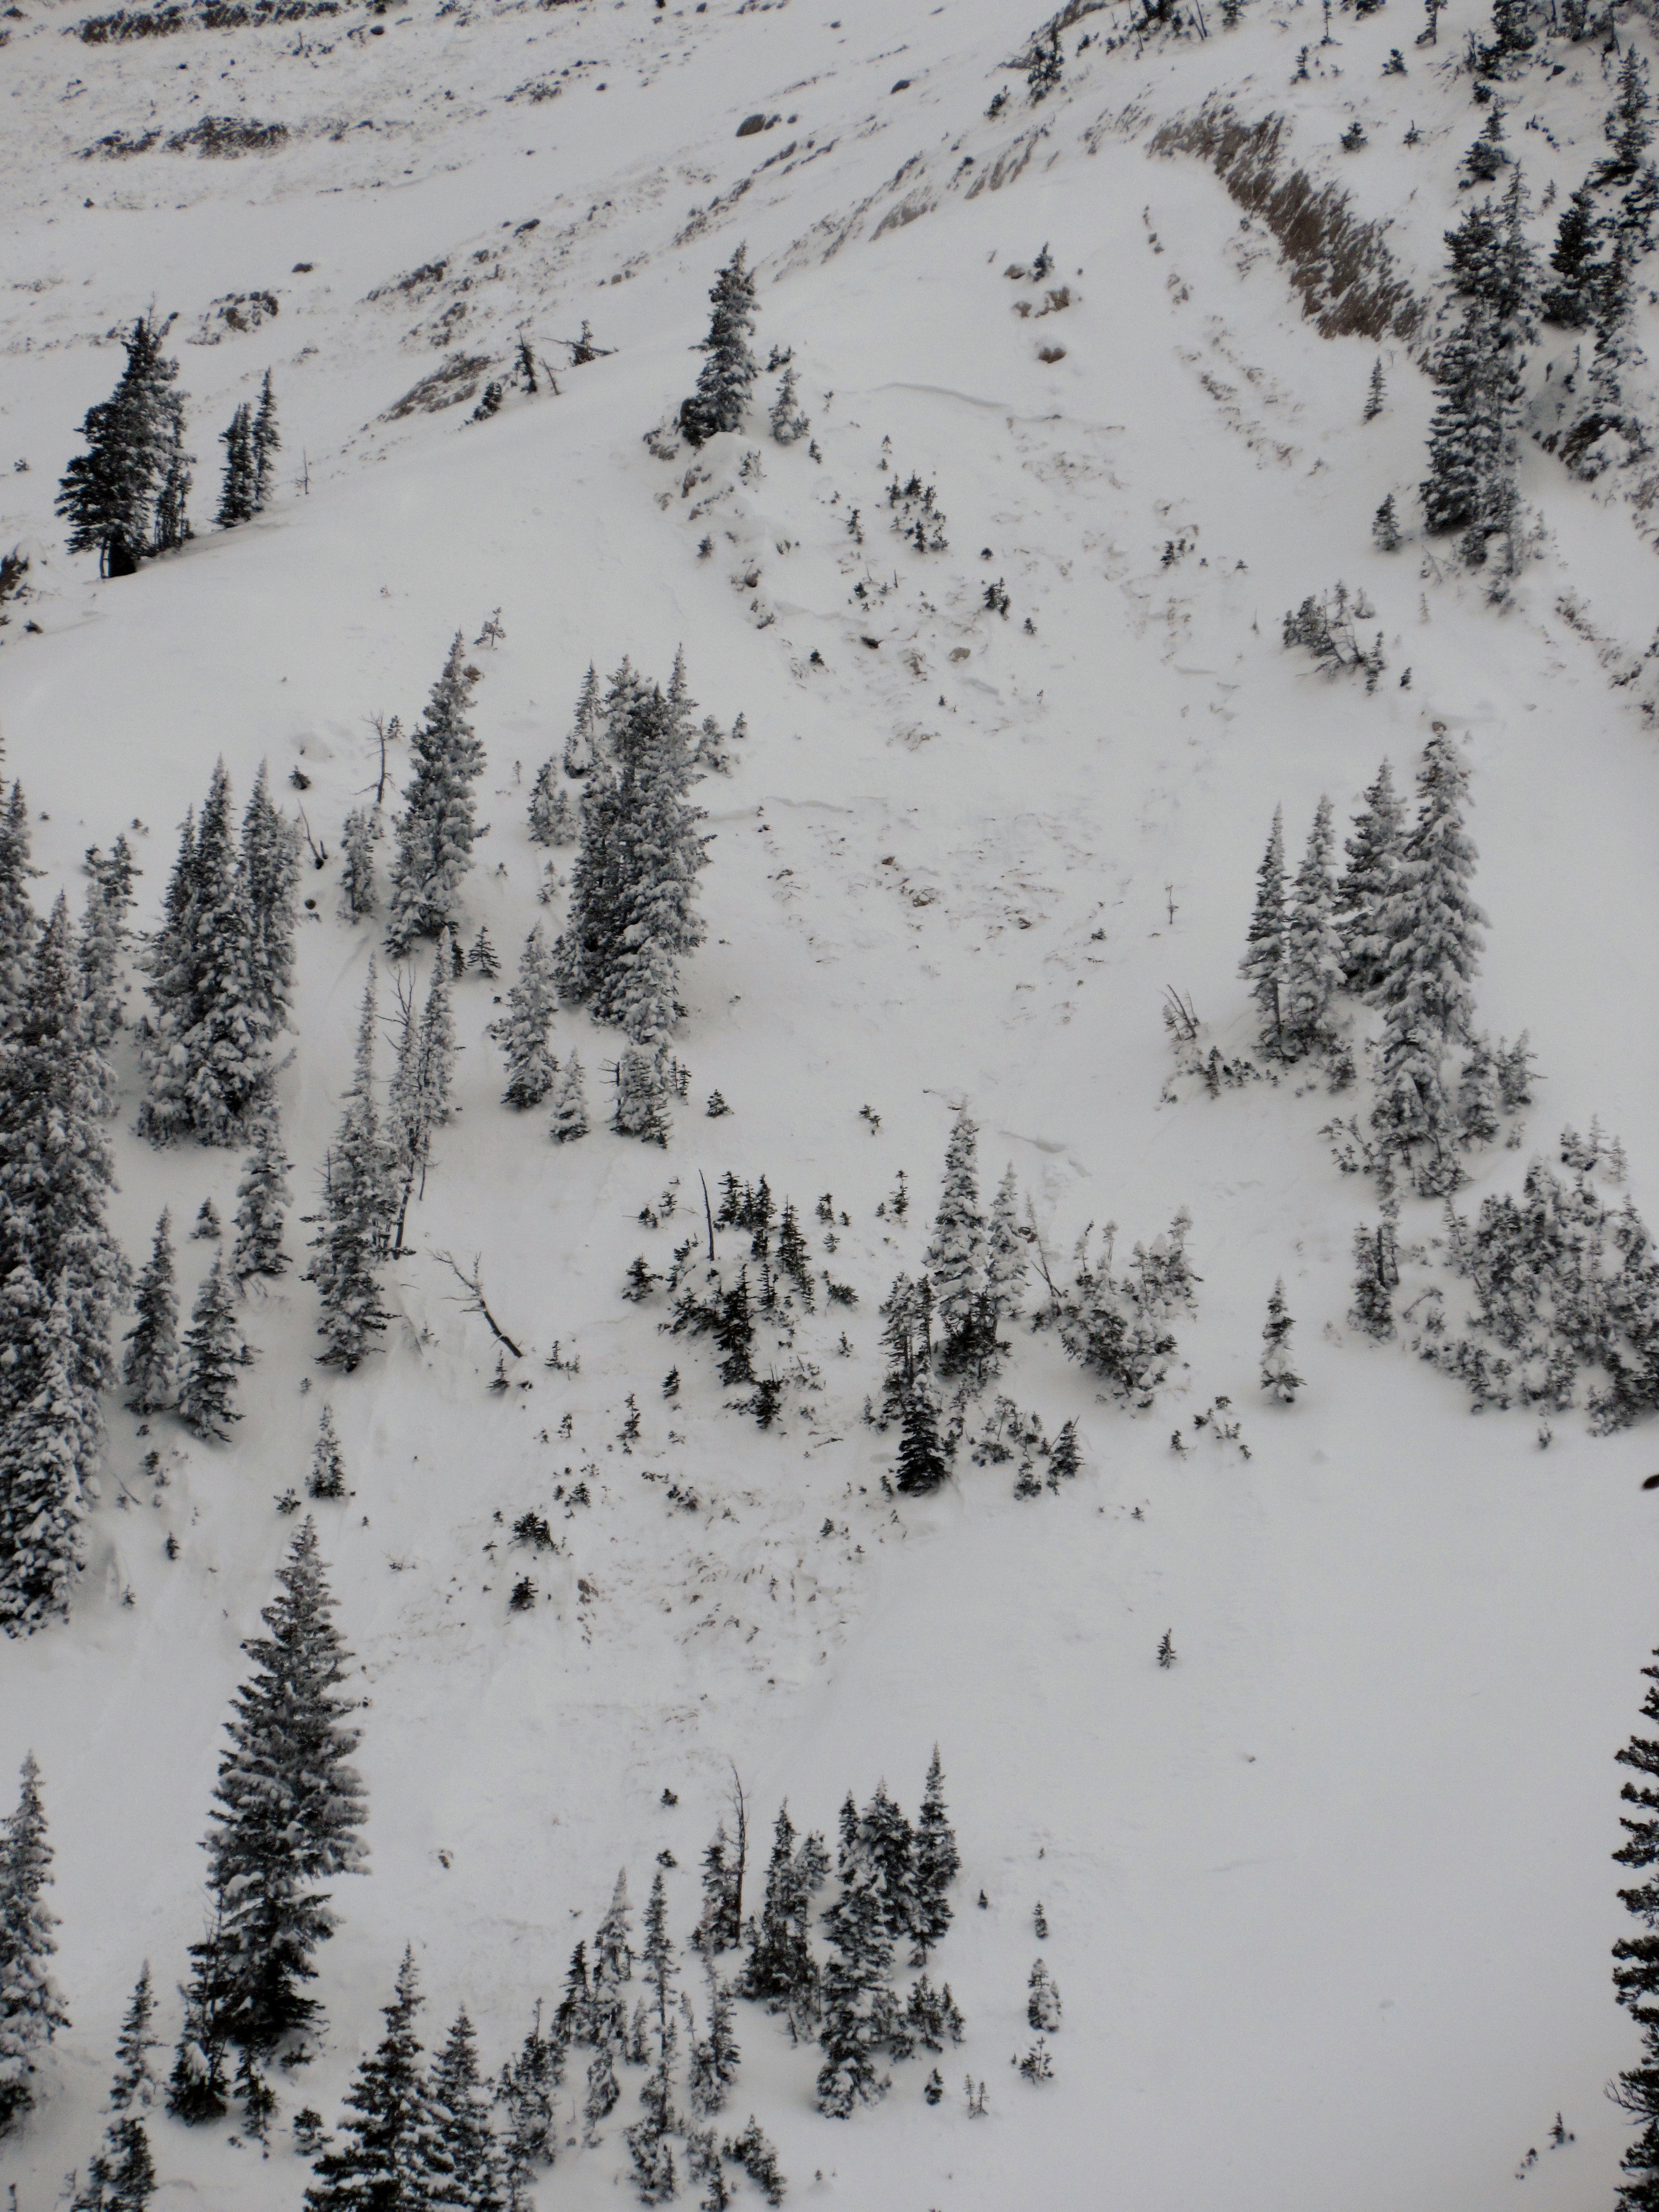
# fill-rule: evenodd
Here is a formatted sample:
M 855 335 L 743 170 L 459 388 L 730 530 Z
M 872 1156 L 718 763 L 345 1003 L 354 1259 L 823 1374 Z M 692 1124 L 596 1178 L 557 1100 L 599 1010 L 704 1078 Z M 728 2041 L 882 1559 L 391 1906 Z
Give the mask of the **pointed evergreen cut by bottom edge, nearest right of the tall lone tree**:
M 380 2048 L 345 2097 L 345 2141 L 316 2159 L 305 2212 L 429 2212 L 442 2203 L 442 2135 L 420 2066 L 416 2013 L 425 2004 L 414 1951 L 403 1953 Z

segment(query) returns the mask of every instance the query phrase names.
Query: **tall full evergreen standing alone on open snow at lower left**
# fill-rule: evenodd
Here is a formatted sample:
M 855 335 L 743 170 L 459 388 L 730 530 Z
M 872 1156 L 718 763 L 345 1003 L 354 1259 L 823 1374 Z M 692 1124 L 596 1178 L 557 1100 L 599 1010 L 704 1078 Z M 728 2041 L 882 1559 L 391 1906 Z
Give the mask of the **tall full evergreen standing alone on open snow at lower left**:
M 361 1699 L 341 1694 L 352 1655 L 334 1626 L 310 1515 L 276 1582 L 261 1613 L 270 1635 L 243 1646 L 254 1672 L 232 1699 L 206 1843 L 210 1885 L 226 1900 L 219 2028 L 259 2057 L 316 2020 L 303 1984 L 316 1978 L 312 1958 L 336 1927 L 316 1885 L 361 1874 L 367 1858 L 356 1834 L 367 1798 L 349 1763 L 361 1732 L 345 1721 Z

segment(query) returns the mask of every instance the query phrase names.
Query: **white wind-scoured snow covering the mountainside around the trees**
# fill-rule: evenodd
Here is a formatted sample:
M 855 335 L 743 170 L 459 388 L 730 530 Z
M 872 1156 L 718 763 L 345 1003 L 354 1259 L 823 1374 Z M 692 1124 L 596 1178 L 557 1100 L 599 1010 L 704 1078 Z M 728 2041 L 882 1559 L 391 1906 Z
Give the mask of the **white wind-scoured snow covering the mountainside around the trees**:
M 1212 168 L 1148 155 L 1159 122 L 1214 91 L 1245 122 L 1285 115 L 1287 159 L 1391 221 L 1398 274 L 1431 301 L 1455 161 L 1482 124 L 1451 73 L 1469 0 L 1433 53 L 1411 44 L 1405 0 L 1338 13 L 1325 73 L 1294 88 L 1314 9 L 1252 7 L 1228 38 L 1115 53 L 1102 38 L 1121 22 L 1097 13 L 1066 33 L 1064 86 L 1040 108 L 1022 71 L 1000 71 L 1035 29 L 1006 0 L 843 0 L 841 20 L 832 0 L 440 15 L 418 0 L 128 44 L 71 35 L 75 7 L 9 13 L 0 462 L 29 469 L 0 478 L 0 540 L 31 555 L 38 597 L 0 650 L 7 774 L 29 794 L 42 909 L 60 885 L 77 905 L 84 847 L 128 830 L 144 927 L 217 754 L 239 801 L 268 759 L 283 803 L 305 807 L 327 867 L 303 883 L 316 911 L 281 1073 L 294 1214 L 314 1201 L 378 947 L 372 922 L 336 920 L 341 821 L 378 772 L 372 717 L 409 728 L 453 630 L 471 639 L 500 608 L 504 641 L 473 653 L 489 836 L 469 880 L 500 991 L 524 933 L 562 911 L 535 900 L 524 807 L 588 661 L 604 675 L 630 655 L 666 681 L 684 644 L 701 710 L 721 726 L 741 710 L 750 730 L 730 781 L 697 790 L 714 832 L 708 945 L 686 967 L 675 1048 L 692 1086 L 668 1150 L 602 1126 L 617 1040 L 577 1011 L 553 1046 L 582 1053 L 593 1133 L 553 1146 L 542 1113 L 509 1113 L 493 991 L 469 978 L 462 1110 L 436 1141 L 418 1252 L 389 1276 L 385 1354 L 349 1378 L 319 1369 L 316 1298 L 294 1270 L 250 1294 L 261 1356 L 230 1447 L 170 1418 L 139 1438 L 111 1405 L 73 1621 L 0 1652 L 0 1778 L 35 1750 L 75 2022 L 42 2110 L 0 2152 L 20 2212 L 53 2205 L 97 2146 L 139 1962 L 170 1997 L 201 1931 L 219 1725 L 292 1537 L 274 1500 L 303 1489 L 323 1400 L 354 1491 L 316 1511 L 363 1668 L 372 1871 L 334 1887 L 327 2051 L 279 2077 L 270 2161 L 228 2141 L 234 2124 L 157 2117 L 157 2208 L 299 2205 L 288 2117 L 314 2104 L 334 2124 L 405 1942 L 427 2042 L 465 2000 L 498 2066 L 619 1865 L 641 1902 L 670 1849 L 675 1936 L 690 1933 L 732 1761 L 763 1863 L 785 1796 L 799 1827 L 827 1829 L 849 1787 L 863 1803 L 885 1776 L 914 1809 L 936 1741 L 964 1867 L 933 1971 L 967 2046 L 942 2062 L 938 2110 L 916 2059 L 880 2108 L 838 2124 L 812 2108 L 816 2053 L 743 2008 L 734 2119 L 759 2112 L 792 2199 L 1606 2203 L 1626 2137 L 1604 2084 L 1637 2048 L 1608 1975 L 1613 1752 L 1659 1637 L 1659 1502 L 1639 1491 L 1655 1433 L 1593 1440 L 1575 1416 L 1540 1451 L 1533 1420 L 1471 1420 L 1453 1383 L 1347 1327 L 1349 1239 L 1376 1197 L 1316 1130 L 1352 1099 L 1292 1075 L 1161 1104 L 1166 984 L 1248 1040 L 1234 969 L 1274 805 L 1298 852 L 1321 792 L 1343 818 L 1383 754 L 1409 785 L 1444 721 L 1473 770 L 1491 916 L 1480 1020 L 1528 1029 L 1544 1075 L 1522 1150 L 1482 1155 L 1460 1210 L 1590 1115 L 1624 1135 L 1637 1206 L 1659 1210 L 1655 737 L 1641 684 L 1608 681 L 1652 626 L 1644 518 L 1528 447 L 1542 529 L 1506 613 L 1444 562 L 1420 573 L 1416 538 L 1374 553 L 1383 495 L 1413 509 L 1427 378 L 1387 341 L 1389 403 L 1363 425 L 1376 347 L 1318 336 Z M 1082 31 L 1097 42 L 1073 60 Z M 1394 44 L 1405 80 L 1380 75 Z M 1562 195 L 1582 179 L 1613 97 L 1595 44 L 1566 60 L 1520 80 L 1509 117 L 1535 204 L 1548 179 Z M 750 113 L 776 124 L 739 139 Z M 1369 146 L 1345 157 L 1354 113 Z M 1546 131 L 1524 128 L 1531 113 Z M 288 137 L 228 159 L 170 150 L 201 117 Z M 1418 146 L 1400 144 L 1409 122 Z M 95 150 L 150 131 L 139 153 Z M 706 292 L 739 241 L 761 279 L 759 345 L 794 347 L 821 460 L 774 445 L 763 407 L 752 436 L 701 456 L 644 445 L 690 389 Z M 1044 285 L 1004 276 L 1044 241 Z M 1071 305 L 1037 319 L 1060 285 Z M 276 307 L 237 330 L 221 307 L 246 294 Z M 62 553 L 51 498 L 119 372 L 115 334 L 150 303 L 177 312 L 204 535 L 100 584 Z M 555 341 L 584 319 L 613 352 L 564 369 Z M 509 398 L 480 425 L 473 398 L 389 420 L 456 358 L 480 358 L 473 387 L 507 374 L 520 327 L 557 365 L 557 398 Z M 210 533 L 217 431 L 265 367 L 279 498 Z M 900 476 L 938 487 L 949 551 L 887 531 L 887 438 Z M 759 480 L 739 478 L 748 447 Z M 1283 611 L 1338 575 L 1385 633 L 1371 697 L 1279 641 Z M 993 580 L 1009 619 L 982 608 Z M 407 774 L 407 748 L 392 768 Z M 115 1225 L 142 1259 L 164 1203 L 179 1232 L 208 1192 L 228 1221 L 239 1161 L 137 1141 L 137 1064 L 117 1051 Z M 714 1086 L 730 1119 L 701 1115 Z M 1082 1480 L 1015 1502 L 1011 1467 L 962 1451 L 945 1491 L 896 1509 L 880 1491 L 896 1433 L 858 1416 L 880 1374 L 876 1307 L 920 1267 L 962 1102 L 987 1199 L 1013 1161 L 1055 1267 L 1091 1221 L 1121 1223 L 1126 1250 L 1188 1206 L 1201 1314 L 1146 1416 L 1097 1402 L 1051 1332 L 1015 1332 L 1002 1389 L 1048 1433 L 1077 1418 Z M 849 1217 L 827 1263 L 858 1305 L 821 1312 L 792 1352 L 757 1340 L 761 1371 L 818 1369 L 772 1433 L 726 1409 L 706 1345 L 657 1334 L 661 1296 L 619 1296 L 637 1252 L 661 1270 L 701 1225 L 699 1172 L 714 1188 L 728 1168 L 792 1197 L 814 1250 L 821 1192 Z M 878 1206 L 900 1168 L 914 1203 L 896 1221 Z M 644 1228 L 670 1183 L 675 1214 Z M 1436 1208 L 1411 1201 L 1405 1237 L 1436 1232 Z M 307 1234 L 290 1221 L 296 1261 Z M 186 1303 L 212 1250 L 181 1243 Z M 440 1250 L 480 1254 L 524 1347 L 504 1394 Z M 1292 1409 L 1256 1385 L 1276 1276 L 1307 1378 Z M 1453 1312 L 1462 1298 L 1449 1283 Z M 580 1374 L 544 1365 L 555 1340 Z M 1192 1429 L 1217 1394 L 1248 1458 Z M 150 1447 L 168 1473 L 155 1504 Z M 591 1506 L 566 1517 L 555 1486 L 584 1473 Z M 560 1555 L 509 1546 L 526 1509 L 551 1515 Z M 509 1613 L 524 1573 L 540 1601 Z M 1170 1670 L 1155 1663 L 1166 1630 Z M 1037 1900 L 1066 2006 L 1044 2088 L 1011 2068 L 1031 2042 Z M 177 2006 L 159 2026 L 177 2033 Z M 984 2121 L 967 2117 L 964 2068 L 989 2084 Z M 544 2208 L 626 2192 L 635 2081 L 597 2150 L 562 2152 Z M 1577 2141 L 1544 2150 L 1557 2108 Z M 1517 2181 L 1528 2146 L 1542 2154 Z

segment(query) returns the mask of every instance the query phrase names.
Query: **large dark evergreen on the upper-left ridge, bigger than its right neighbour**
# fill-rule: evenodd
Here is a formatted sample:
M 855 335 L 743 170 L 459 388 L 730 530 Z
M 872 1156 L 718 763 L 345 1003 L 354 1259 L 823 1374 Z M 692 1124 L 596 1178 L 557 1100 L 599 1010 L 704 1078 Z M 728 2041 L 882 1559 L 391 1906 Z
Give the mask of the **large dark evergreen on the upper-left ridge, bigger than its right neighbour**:
M 69 522 L 69 551 L 95 551 L 100 575 L 133 575 L 153 549 L 157 495 L 168 484 L 181 420 L 168 392 L 179 363 L 161 354 L 168 325 L 170 319 L 157 327 L 142 316 L 126 332 L 115 392 L 82 420 L 88 451 L 69 462 L 58 484 L 55 513 Z

